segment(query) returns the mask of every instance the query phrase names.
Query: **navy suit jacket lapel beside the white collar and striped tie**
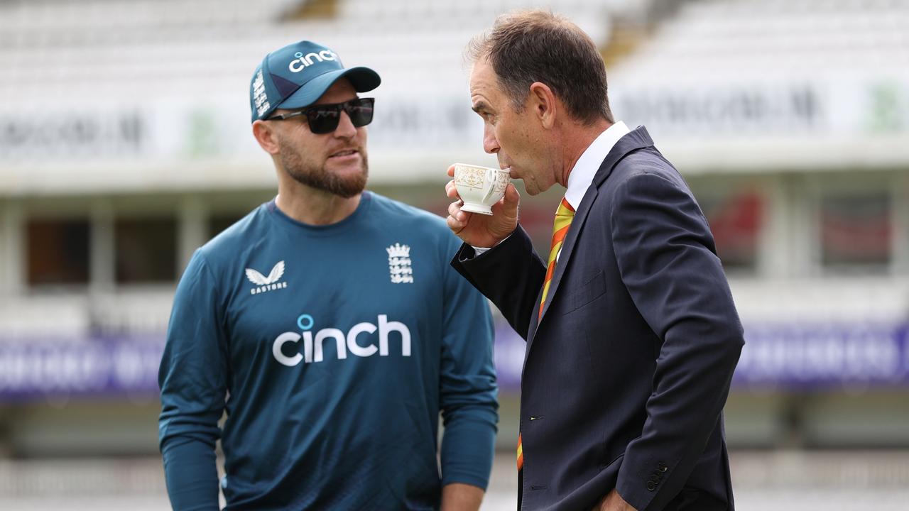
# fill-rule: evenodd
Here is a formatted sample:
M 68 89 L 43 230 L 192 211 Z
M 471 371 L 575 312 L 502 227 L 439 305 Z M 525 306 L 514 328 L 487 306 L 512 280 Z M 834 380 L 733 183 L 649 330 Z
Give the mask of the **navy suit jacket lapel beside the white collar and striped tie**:
M 558 262 L 555 264 L 553 280 L 549 284 L 549 293 L 546 296 L 546 303 L 543 306 L 543 317 L 546 316 L 546 311 L 549 310 L 555 293 L 558 292 L 559 283 L 562 281 L 565 268 L 568 266 L 568 261 L 574 253 L 574 246 L 577 243 L 578 233 L 581 232 L 581 228 L 584 226 L 584 220 L 587 219 L 591 205 L 594 204 L 594 199 L 599 193 L 599 186 L 603 185 L 606 178 L 612 174 L 615 164 L 621 161 L 625 155 L 651 145 L 654 145 L 654 141 L 650 138 L 650 135 L 647 134 L 647 130 L 643 126 L 637 127 L 620 138 L 619 141 L 615 143 L 612 150 L 609 151 L 609 154 L 606 155 L 603 163 L 600 164 L 599 170 L 597 170 L 594 175 L 593 182 L 590 187 L 587 188 L 587 192 L 581 200 L 581 205 L 574 214 L 574 219 L 572 220 L 571 226 L 568 228 L 568 234 L 565 235 L 564 242 L 562 243 L 562 253 L 559 255 Z M 541 296 L 538 294 L 537 303 L 539 303 L 540 297 Z M 531 325 L 530 330 L 528 330 L 530 334 L 527 336 L 527 352 L 530 351 L 530 344 L 533 342 L 534 335 L 536 334 L 536 326 L 542 322 L 542 318 L 537 319 L 537 316 L 534 315 L 534 325 Z

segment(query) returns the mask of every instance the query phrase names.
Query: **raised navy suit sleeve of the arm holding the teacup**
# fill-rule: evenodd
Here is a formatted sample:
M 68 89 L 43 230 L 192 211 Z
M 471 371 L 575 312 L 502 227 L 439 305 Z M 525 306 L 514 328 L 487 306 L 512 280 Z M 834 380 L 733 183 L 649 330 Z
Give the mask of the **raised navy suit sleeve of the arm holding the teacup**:
M 452 266 L 498 307 L 518 335 L 527 339 L 546 266 L 521 225 L 481 255 L 474 257 L 472 246 L 461 245 Z

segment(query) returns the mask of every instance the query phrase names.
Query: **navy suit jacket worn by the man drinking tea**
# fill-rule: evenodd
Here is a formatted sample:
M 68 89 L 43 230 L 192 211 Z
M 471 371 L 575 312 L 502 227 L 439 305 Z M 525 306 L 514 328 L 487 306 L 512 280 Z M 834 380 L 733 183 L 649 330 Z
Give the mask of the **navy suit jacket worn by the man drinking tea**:
M 643 127 L 603 161 L 545 266 L 520 226 L 452 266 L 527 341 L 523 509 L 734 509 L 723 406 L 744 345 L 714 239 Z

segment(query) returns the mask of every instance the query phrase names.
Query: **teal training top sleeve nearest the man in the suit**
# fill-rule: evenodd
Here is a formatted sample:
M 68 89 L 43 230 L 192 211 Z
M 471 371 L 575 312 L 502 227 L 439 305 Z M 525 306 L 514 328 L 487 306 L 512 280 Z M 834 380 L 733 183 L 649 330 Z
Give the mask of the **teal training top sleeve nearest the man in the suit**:
M 457 247 L 452 237 L 451 254 Z M 447 256 L 446 254 L 446 256 Z M 444 263 L 445 310 L 439 406 L 442 484 L 485 489 L 493 466 L 498 386 L 493 365 L 493 320 L 489 303 Z

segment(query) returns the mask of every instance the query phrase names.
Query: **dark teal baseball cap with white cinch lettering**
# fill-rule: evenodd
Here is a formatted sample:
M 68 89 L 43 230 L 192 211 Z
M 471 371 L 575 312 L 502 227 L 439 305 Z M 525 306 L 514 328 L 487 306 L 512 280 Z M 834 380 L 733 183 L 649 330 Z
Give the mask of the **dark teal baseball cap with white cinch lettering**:
M 350 80 L 356 92 L 371 91 L 382 82 L 368 67 L 345 69 L 335 52 L 312 41 L 286 45 L 265 55 L 249 86 L 253 122 L 272 115 L 276 108 L 312 105 L 342 77 Z

